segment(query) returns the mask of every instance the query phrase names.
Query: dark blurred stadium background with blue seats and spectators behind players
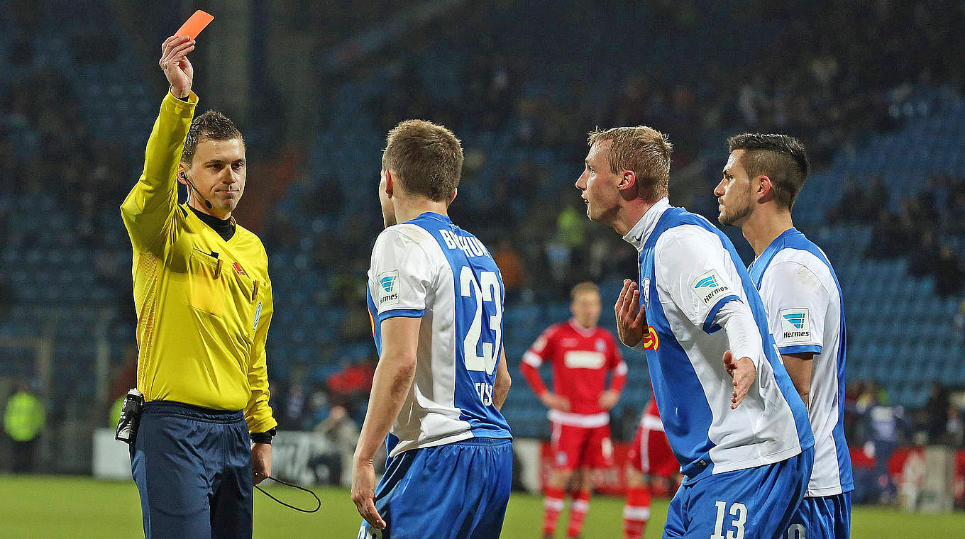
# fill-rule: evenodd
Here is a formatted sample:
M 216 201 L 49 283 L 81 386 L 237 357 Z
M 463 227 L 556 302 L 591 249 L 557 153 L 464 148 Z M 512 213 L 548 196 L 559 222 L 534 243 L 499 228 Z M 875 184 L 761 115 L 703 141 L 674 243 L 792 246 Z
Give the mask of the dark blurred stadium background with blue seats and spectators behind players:
M 712 221 L 728 136 L 782 132 L 805 143 L 815 172 L 794 218 L 828 254 L 844 293 L 856 499 L 900 506 L 917 488 L 941 495 L 917 499 L 920 506 L 965 503 L 965 4 L 141 4 L 0 0 L 0 407 L 19 386 L 45 405 L 32 472 L 110 468 L 97 462 L 109 457 L 95 449 L 95 433 L 110 426 L 135 366 L 130 245 L 118 206 L 140 173 L 165 92 L 159 43 L 200 8 L 215 20 L 190 57 L 194 90 L 200 109 L 225 112 L 245 135 L 250 172 L 235 217 L 269 253 L 278 306 L 268 337 L 272 405 L 281 430 L 317 431 L 291 438 L 276 453 L 277 470 L 345 481 L 340 453 L 353 447 L 350 419 L 364 416 L 374 361 L 364 285 L 381 229 L 375 186 L 389 128 L 422 118 L 463 142 L 452 215 L 503 269 L 517 381 L 504 410 L 518 438 L 538 440 L 548 423 L 518 373 L 522 352 L 568 316 L 572 283 L 600 283 L 611 303 L 637 271 L 632 249 L 586 219 L 572 186 L 586 133 L 644 123 L 676 145 L 672 202 Z M 739 230 L 726 231 L 750 261 Z M 601 323 L 612 328 L 607 312 Z M 630 377 L 612 423 L 623 441 L 649 398 L 643 358 L 625 356 Z M 869 453 L 882 442 L 860 413 L 871 398 L 900 418 L 894 491 L 869 479 Z M 336 420 L 331 411 L 342 408 L 348 419 Z M 14 452 L 0 437 L 0 470 L 14 468 Z M 295 462 L 296 454 L 311 459 Z M 533 459 L 521 487 L 533 487 Z M 924 476 L 908 464 L 915 459 Z M 139 525 L 130 485 L 4 475 L 0 485 L 17 489 L 14 498 L 38 493 L 20 498 L 35 500 L 33 510 L 0 513 L 0 522 L 16 516 L 35 526 L 23 536 L 64 520 L 49 498 L 68 499 L 71 489 L 92 493 L 91 504 L 133 504 L 123 536 Z M 347 494 L 338 505 L 338 491 L 323 492 L 333 500 L 324 507 L 351 510 Z M 78 514 L 84 501 L 71 499 Z M 587 536 L 620 529 L 617 501 L 613 522 L 600 518 L 608 503 L 593 501 Z M 535 534 L 538 510 L 513 513 L 512 504 L 513 532 Z M 325 523 L 325 511 L 304 522 Z M 863 522 L 892 522 L 889 511 L 857 510 L 856 536 Z M 943 518 L 965 526 L 961 513 Z M 917 521 L 894 522 L 887 529 Z M 355 531 L 348 527 L 342 536 Z M 648 536 L 658 532 L 650 526 Z

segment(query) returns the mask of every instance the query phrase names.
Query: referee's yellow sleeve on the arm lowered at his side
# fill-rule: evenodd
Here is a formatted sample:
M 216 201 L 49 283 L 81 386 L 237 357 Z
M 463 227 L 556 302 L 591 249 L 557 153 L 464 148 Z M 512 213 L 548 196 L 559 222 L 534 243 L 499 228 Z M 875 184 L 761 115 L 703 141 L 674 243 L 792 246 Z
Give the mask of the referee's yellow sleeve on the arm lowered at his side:
M 265 432 L 278 426 L 278 421 L 272 417 L 271 407 L 268 406 L 268 398 L 271 394 L 268 391 L 268 367 L 264 355 L 268 326 L 271 324 L 271 315 L 275 310 L 271 281 L 265 282 L 263 300 L 257 309 L 255 341 L 252 344 L 251 360 L 248 364 L 248 387 L 251 390 L 251 397 L 248 399 L 248 406 L 245 407 L 244 418 L 248 422 L 250 432 Z

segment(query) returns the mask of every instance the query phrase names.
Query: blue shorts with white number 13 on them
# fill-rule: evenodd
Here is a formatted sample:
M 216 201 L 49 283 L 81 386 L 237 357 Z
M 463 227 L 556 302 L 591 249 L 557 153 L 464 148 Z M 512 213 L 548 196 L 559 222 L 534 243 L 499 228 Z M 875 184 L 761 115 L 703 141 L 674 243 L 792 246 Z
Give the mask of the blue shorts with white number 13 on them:
M 810 448 L 785 461 L 681 485 L 667 510 L 663 537 L 784 539 L 813 465 Z

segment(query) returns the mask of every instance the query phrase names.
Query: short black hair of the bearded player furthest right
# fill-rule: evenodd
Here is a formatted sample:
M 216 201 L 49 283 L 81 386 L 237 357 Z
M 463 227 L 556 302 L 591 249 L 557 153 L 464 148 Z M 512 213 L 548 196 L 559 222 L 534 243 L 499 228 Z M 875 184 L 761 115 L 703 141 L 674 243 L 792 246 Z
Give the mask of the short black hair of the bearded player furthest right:
M 728 150 L 743 149 L 741 166 L 749 178 L 766 175 L 774 186 L 774 201 L 790 209 L 794 205 L 811 163 L 801 141 L 787 135 L 744 133 L 728 139 Z

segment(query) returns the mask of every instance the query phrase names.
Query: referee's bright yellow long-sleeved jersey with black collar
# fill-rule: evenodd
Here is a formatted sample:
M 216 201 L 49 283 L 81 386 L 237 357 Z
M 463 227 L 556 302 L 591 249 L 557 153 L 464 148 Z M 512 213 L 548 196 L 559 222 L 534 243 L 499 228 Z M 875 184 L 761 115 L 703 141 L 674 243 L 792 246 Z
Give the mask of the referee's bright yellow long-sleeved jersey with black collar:
M 198 96 L 167 94 L 144 173 L 121 205 L 134 248 L 137 389 L 145 400 L 243 410 L 251 432 L 277 423 L 268 406 L 264 341 L 271 281 L 262 241 L 236 226 L 228 241 L 187 205 L 176 179 Z

